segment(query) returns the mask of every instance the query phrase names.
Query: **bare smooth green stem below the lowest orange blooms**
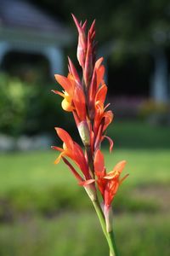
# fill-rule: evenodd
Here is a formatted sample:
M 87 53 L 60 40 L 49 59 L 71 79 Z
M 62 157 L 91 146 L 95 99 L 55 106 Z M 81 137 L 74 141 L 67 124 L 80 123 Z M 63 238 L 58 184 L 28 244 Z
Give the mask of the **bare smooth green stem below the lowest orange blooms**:
M 105 238 L 108 242 L 108 245 L 110 247 L 110 255 L 111 256 L 118 256 L 117 250 L 116 250 L 116 243 L 114 239 L 113 232 L 107 233 L 106 226 L 105 226 L 105 216 L 104 213 L 99 205 L 99 201 L 92 201 L 94 204 L 95 211 L 97 212 L 99 222 L 101 224 L 102 230 L 104 232 Z

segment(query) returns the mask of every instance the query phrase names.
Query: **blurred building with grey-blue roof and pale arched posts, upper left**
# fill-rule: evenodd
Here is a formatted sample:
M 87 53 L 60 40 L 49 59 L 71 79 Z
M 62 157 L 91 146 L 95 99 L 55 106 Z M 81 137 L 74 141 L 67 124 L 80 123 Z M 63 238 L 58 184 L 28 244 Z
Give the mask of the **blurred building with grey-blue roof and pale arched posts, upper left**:
M 0 0 L 0 67 L 8 53 L 38 54 L 48 59 L 50 73 L 63 73 L 63 49 L 71 31 L 24 0 Z

